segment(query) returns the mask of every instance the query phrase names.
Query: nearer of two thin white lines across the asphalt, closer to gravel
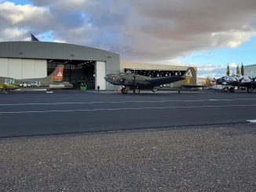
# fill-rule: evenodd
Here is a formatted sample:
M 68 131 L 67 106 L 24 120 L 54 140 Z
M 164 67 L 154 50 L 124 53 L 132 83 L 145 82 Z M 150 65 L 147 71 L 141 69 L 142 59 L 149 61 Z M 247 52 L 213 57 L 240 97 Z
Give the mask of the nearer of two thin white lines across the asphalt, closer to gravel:
M 123 107 L 123 108 L 101 108 L 82 110 L 24 110 L 24 111 L 2 111 L 0 114 L 26 114 L 26 113 L 56 113 L 56 112 L 77 112 L 77 111 L 97 111 L 97 110 L 154 110 L 154 109 L 177 109 L 177 108 L 204 108 L 204 107 L 254 107 L 254 105 L 206 105 L 206 106 L 178 106 L 178 107 Z

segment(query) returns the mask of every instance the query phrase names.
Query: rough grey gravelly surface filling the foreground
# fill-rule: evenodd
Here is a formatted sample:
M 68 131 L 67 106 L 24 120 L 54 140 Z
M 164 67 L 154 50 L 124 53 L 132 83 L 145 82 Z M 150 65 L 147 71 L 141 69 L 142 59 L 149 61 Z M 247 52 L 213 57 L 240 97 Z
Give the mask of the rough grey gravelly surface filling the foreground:
M 255 191 L 256 124 L 0 139 L 0 191 Z

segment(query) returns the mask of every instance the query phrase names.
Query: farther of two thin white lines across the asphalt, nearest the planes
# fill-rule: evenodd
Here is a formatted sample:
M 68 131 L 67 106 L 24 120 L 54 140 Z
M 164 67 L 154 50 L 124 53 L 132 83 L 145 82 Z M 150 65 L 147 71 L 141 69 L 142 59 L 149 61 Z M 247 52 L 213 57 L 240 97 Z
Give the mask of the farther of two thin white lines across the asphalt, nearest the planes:
M 256 99 L 236 99 L 256 100 Z M 168 102 L 203 102 L 203 101 L 236 101 L 236 100 L 130 100 L 130 101 L 92 101 L 92 102 L 61 102 L 61 103 L 4 103 L 0 106 L 22 105 L 68 105 L 68 104 L 96 104 L 96 103 L 168 103 Z

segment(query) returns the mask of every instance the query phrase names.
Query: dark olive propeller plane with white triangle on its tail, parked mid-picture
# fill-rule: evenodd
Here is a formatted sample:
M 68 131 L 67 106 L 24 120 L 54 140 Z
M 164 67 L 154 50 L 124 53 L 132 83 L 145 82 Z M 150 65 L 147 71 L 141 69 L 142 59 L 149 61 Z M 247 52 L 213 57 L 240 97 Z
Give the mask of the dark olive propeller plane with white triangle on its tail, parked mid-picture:
M 174 82 L 180 82 L 177 87 L 181 87 L 181 85 L 191 85 L 192 82 L 194 82 L 192 81 L 193 75 L 196 77 L 195 69 L 188 67 L 188 70 L 185 71 L 185 74 L 182 76 L 151 78 L 139 74 L 120 72 L 118 74 L 107 74 L 104 79 L 112 85 L 120 85 L 123 94 L 126 94 L 130 89 L 133 90 L 134 94 L 139 94 L 141 89 L 151 89 L 152 92 L 155 92 L 160 85 L 172 84 Z M 173 88 L 177 89 L 177 87 Z M 180 90 L 178 92 L 180 92 Z

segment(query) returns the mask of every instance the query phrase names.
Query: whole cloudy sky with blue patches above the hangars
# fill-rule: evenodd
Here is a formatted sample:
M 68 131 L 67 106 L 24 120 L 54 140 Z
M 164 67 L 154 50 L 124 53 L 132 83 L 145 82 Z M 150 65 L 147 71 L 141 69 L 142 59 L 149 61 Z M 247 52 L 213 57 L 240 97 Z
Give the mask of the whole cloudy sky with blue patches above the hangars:
M 85 45 L 218 78 L 256 63 L 256 0 L 0 0 L 0 42 Z

